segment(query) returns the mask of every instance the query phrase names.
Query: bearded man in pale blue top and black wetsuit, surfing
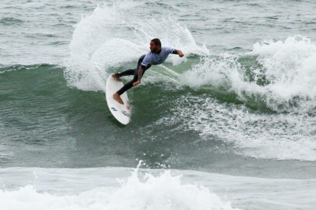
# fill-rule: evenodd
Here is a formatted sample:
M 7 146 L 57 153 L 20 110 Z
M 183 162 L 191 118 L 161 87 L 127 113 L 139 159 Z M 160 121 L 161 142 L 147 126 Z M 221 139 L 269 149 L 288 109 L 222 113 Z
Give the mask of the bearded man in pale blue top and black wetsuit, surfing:
M 133 79 L 127 82 L 122 88 L 117 90 L 113 94 L 113 97 L 117 102 L 124 104 L 121 99 L 121 94 L 131 88 L 140 84 L 140 79 L 151 65 L 157 65 L 165 62 L 169 54 L 179 54 L 180 57 L 184 56 L 181 50 L 175 49 L 169 46 L 162 46 L 162 43 L 159 38 L 154 38 L 150 41 L 150 51 L 147 54 L 141 55 L 137 62 L 137 67 L 135 69 L 127 69 L 123 72 L 113 73 L 112 77 L 116 80 L 121 80 L 121 76 L 134 75 Z

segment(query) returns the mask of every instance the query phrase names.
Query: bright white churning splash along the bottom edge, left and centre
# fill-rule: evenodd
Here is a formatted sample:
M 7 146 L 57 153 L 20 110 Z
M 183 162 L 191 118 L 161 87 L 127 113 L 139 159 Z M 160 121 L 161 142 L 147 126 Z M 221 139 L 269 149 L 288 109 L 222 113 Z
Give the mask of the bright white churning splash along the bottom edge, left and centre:
M 58 176 L 64 179 L 69 178 L 71 174 L 58 173 Z M 85 177 L 82 176 L 82 178 Z M 172 175 L 170 171 L 164 171 L 157 176 L 146 173 L 140 178 L 138 168 L 127 179 L 120 180 L 118 187 L 94 186 L 91 190 L 65 195 L 56 191 L 54 193 L 39 192 L 32 185 L 27 185 L 13 191 L 0 190 L 0 203 L 4 210 L 21 208 L 238 209 L 232 208 L 230 202 L 222 201 L 208 187 L 183 183 L 181 176 Z

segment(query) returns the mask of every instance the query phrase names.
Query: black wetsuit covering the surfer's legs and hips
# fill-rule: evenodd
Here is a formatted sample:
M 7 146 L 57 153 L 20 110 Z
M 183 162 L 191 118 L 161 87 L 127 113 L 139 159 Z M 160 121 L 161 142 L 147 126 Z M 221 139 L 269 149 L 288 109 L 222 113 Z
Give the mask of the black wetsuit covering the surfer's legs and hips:
M 132 80 L 130 80 L 129 82 L 127 82 L 126 84 L 124 84 L 124 86 L 122 88 L 120 88 L 119 90 L 117 90 L 117 93 L 119 95 L 123 94 L 123 92 L 125 92 L 126 90 L 128 90 L 129 88 L 131 88 L 133 86 L 133 83 L 136 82 L 138 80 L 138 69 L 139 66 L 142 62 L 142 60 L 144 59 L 146 54 L 143 54 L 139 57 L 138 62 L 137 62 L 137 67 L 135 69 L 127 69 L 123 72 L 118 72 L 115 73 L 116 77 L 121 77 L 121 76 L 127 76 L 127 75 L 133 75 L 134 74 L 134 78 Z M 144 75 L 145 70 L 148 69 L 151 66 L 151 64 L 148 64 L 147 66 L 141 65 L 142 68 L 142 75 Z

